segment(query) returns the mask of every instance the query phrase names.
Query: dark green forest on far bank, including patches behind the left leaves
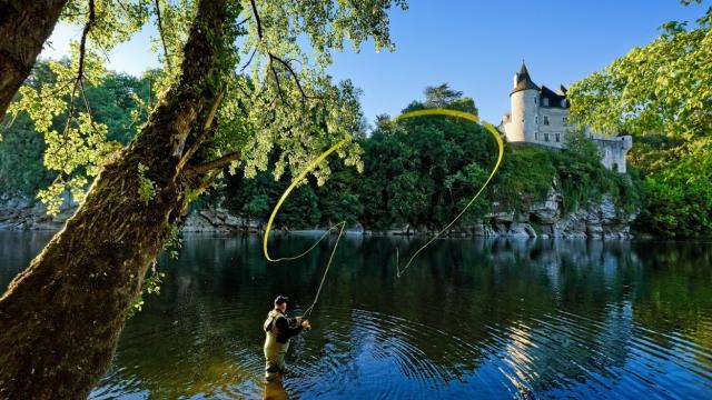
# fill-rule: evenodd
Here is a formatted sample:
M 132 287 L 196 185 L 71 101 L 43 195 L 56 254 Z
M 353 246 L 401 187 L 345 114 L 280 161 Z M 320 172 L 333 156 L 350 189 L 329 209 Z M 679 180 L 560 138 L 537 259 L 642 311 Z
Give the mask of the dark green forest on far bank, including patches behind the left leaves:
M 109 73 L 100 84 L 88 88 L 93 116 L 108 126 L 108 139 L 117 146 L 128 143 L 146 119 L 146 104 L 152 96 L 151 76 L 151 71 L 141 78 Z M 52 79 L 48 64 L 40 62 L 31 84 L 51 83 Z M 424 94 L 403 112 L 441 107 L 477 114 L 472 98 L 445 83 L 426 88 Z M 6 123 L 6 140 L 0 143 L 2 190 L 33 196 L 55 179 L 42 163 L 42 137 L 24 113 Z M 61 127 L 66 117 L 59 116 L 52 123 Z M 496 159 L 490 133 L 478 124 L 455 118 L 422 117 L 394 122 L 382 116 L 369 131 L 363 123 L 354 128 L 358 129 L 354 133 L 363 149 L 363 172 L 333 160 L 332 173 L 324 184 L 310 178 L 295 190 L 278 214 L 278 227 L 310 229 L 346 221 L 370 230 L 394 224 L 437 230 L 469 201 Z M 18 148 L 23 151 L 14 151 Z M 220 202 L 235 214 L 266 221 L 291 181 L 289 172 L 275 179 L 277 153 L 270 156 L 269 168 L 255 177 L 246 177 L 244 168 L 230 173 L 226 167 L 219 184 L 198 199 L 192 209 Z M 606 170 L 599 162 L 595 146 L 575 136 L 564 151 L 507 146 L 493 184 L 461 223 L 482 221 L 492 212 L 525 213 L 545 200 L 553 186 L 562 194 L 565 213 L 600 200 L 604 193 L 612 194 L 621 211 L 630 213 L 640 209 L 644 199 L 641 179 L 635 168 L 630 174 Z

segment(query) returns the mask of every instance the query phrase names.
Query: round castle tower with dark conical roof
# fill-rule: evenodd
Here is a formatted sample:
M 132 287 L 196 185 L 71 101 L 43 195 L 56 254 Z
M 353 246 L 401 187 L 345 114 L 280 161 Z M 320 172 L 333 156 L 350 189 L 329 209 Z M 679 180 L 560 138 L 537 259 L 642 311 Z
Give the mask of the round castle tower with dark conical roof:
M 514 74 L 514 89 L 510 92 L 512 104 L 506 137 L 510 142 L 534 141 L 535 116 L 538 109 L 540 88 L 530 78 L 524 61 L 520 72 Z

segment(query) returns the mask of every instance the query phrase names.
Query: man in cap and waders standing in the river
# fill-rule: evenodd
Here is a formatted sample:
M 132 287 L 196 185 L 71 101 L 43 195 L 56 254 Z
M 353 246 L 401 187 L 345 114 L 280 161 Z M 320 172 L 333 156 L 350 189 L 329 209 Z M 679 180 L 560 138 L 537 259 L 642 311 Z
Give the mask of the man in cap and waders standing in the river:
M 269 311 L 263 328 L 267 333 L 265 338 L 265 379 L 271 381 L 280 377 L 285 371 L 285 354 L 289 349 L 289 338 L 310 329 L 309 321 L 301 317 L 287 318 L 287 301 L 289 298 L 277 296 L 275 309 Z

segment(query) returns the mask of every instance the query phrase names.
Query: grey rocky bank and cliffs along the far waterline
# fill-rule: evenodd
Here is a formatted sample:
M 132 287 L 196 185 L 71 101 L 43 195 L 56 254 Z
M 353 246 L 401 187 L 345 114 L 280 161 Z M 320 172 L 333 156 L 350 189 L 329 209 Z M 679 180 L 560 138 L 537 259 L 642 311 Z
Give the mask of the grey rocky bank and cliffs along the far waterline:
M 6 230 L 59 230 L 73 214 L 76 207 L 66 207 L 57 217 L 48 217 L 41 203 L 31 204 L 26 198 L 0 197 L 0 229 Z M 637 213 L 620 210 L 611 196 L 604 194 L 600 201 L 580 208 L 563 216 L 561 194 L 552 189 L 548 198 L 527 212 L 493 213 L 481 223 L 459 227 L 451 232 L 452 237 L 521 237 L 521 238 L 591 238 L 626 239 L 631 238 L 630 224 Z M 396 226 L 388 231 L 354 232 L 365 234 L 418 234 L 432 233 L 413 227 Z M 186 219 L 184 232 L 192 233 L 261 233 L 263 224 L 248 218 L 236 217 L 222 208 L 207 208 L 192 211 Z

